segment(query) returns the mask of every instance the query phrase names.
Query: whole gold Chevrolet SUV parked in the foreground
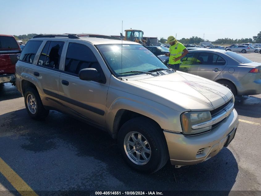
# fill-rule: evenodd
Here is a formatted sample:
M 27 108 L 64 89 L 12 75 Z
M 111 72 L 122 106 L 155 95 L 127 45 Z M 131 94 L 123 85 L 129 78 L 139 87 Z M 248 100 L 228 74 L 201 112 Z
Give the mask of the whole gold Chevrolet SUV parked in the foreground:
M 204 162 L 238 126 L 228 88 L 175 72 L 136 42 L 38 35 L 16 63 L 16 82 L 33 119 L 57 110 L 99 127 L 141 172 L 168 159 L 177 168 Z

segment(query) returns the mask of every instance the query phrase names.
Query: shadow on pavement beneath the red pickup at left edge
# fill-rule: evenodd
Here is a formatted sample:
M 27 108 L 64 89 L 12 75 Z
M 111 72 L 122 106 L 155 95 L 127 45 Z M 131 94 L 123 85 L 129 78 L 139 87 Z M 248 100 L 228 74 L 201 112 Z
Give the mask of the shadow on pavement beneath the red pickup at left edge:
M 0 101 L 22 97 L 22 94 L 11 83 L 0 84 Z

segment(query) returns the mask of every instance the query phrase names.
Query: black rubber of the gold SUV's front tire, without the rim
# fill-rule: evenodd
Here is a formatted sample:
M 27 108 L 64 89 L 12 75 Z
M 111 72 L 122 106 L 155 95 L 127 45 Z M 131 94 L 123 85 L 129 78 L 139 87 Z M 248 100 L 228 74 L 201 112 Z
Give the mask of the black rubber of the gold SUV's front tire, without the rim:
M 149 144 L 151 150 L 150 158 L 144 165 L 138 165 L 128 157 L 124 148 L 124 138 L 130 132 L 142 134 Z M 146 117 L 137 117 L 125 122 L 118 133 L 118 146 L 124 161 L 133 169 L 143 173 L 154 173 L 161 169 L 169 159 L 166 138 L 160 126 Z M 135 149 L 133 147 L 133 149 Z M 136 150 L 136 149 L 135 149 Z M 137 150 L 136 150 L 137 151 Z M 134 152 L 136 153 L 136 152 Z M 137 153 L 136 153 L 137 155 Z

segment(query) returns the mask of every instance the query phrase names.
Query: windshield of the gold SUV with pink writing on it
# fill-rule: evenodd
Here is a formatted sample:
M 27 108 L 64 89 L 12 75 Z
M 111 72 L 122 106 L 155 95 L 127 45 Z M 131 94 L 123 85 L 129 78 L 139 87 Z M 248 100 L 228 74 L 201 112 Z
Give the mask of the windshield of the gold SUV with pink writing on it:
M 106 44 L 97 46 L 109 67 L 118 76 L 145 74 L 131 71 L 149 72 L 154 69 L 168 69 L 150 50 L 136 44 Z

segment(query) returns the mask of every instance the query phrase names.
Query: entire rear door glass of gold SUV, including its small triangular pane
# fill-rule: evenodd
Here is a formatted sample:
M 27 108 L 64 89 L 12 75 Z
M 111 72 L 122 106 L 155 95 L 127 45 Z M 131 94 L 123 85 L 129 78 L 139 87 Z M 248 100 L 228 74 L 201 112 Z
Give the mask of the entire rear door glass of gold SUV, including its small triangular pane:
M 59 69 L 63 45 L 64 45 L 63 41 L 46 42 L 40 54 L 38 64 L 43 63 L 44 67 Z

